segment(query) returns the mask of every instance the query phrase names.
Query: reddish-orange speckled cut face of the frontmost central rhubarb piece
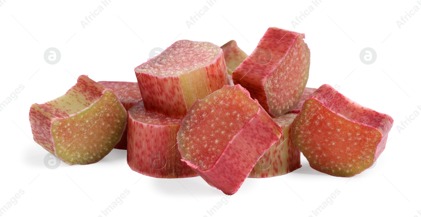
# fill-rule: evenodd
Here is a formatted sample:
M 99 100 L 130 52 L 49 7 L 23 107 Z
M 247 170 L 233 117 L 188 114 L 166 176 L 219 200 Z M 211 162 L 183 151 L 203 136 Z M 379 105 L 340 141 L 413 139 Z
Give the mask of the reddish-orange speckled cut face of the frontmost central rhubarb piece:
M 184 159 L 210 168 L 226 145 L 256 114 L 258 103 L 239 86 L 224 86 L 190 108 L 179 133 Z

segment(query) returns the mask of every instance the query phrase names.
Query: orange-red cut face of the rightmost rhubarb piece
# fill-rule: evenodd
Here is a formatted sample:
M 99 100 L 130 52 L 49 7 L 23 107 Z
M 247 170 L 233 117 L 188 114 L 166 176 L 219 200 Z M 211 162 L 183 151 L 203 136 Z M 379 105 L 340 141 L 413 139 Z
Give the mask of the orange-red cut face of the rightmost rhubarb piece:
M 315 99 L 304 103 L 293 130 L 293 142 L 312 168 L 342 177 L 369 168 L 382 139 L 377 129 L 335 114 Z

